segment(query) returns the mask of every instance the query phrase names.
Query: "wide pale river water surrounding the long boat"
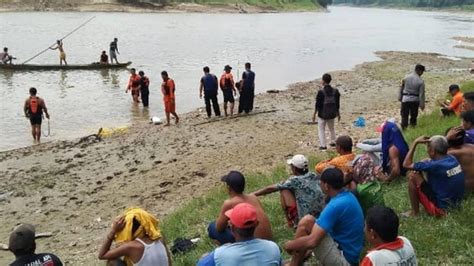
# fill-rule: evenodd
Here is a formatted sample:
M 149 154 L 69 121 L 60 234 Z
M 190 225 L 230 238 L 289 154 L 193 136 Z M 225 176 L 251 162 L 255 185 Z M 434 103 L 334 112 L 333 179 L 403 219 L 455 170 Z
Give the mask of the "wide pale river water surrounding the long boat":
M 0 150 L 32 144 L 23 115 L 32 86 L 50 110 L 51 135 L 43 141 L 51 141 L 163 117 L 162 70 L 175 80 L 177 111 L 183 113 L 204 105 L 198 88 L 205 65 L 219 76 L 229 64 L 236 76 L 245 62 L 251 62 L 257 92 L 264 92 L 377 60 L 374 51 L 473 56 L 471 51 L 453 48 L 457 41 L 451 39 L 472 36 L 472 13 L 350 7 L 331 7 L 328 13 L 281 14 L 7 12 L 0 13 L 0 44 L 9 47 L 21 63 L 93 16 L 64 40 L 68 63 L 98 61 L 100 52 L 108 52 L 110 41 L 117 37 L 119 61 L 133 61 L 132 67 L 151 79 L 149 110 L 135 106 L 125 94 L 126 69 L 0 70 Z M 57 62 L 58 52 L 47 51 L 30 63 Z

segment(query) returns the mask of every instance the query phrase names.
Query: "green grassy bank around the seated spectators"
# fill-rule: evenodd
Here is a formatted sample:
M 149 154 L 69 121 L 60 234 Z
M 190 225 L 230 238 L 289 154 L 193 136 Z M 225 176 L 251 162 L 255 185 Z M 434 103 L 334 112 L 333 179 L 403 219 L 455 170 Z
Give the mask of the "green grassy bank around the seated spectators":
M 463 91 L 474 91 L 474 81 L 465 83 Z M 459 125 L 455 117 L 440 118 L 437 111 L 422 116 L 419 126 L 406 132 L 407 142 L 411 143 L 419 135 L 443 134 L 446 128 Z M 419 147 L 416 159 L 426 157 L 426 149 Z M 323 158 L 310 156 L 310 165 Z M 281 165 L 268 173 L 246 173 L 247 192 L 255 191 L 265 185 L 284 180 L 287 167 Z M 218 178 L 218 177 L 216 177 Z M 409 209 L 407 184 L 405 178 L 399 178 L 391 184 L 384 185 L 385 202 L 397 213 Z M 224 185 L 212 189 L 207 195 L 196 198 L 182 208 L 168 215 L 162 224 L 168 241 L 177 237 L 201 237 L 197 247 L 192 251 L 174 257 L 176 265 L 194 265 L 198 258 L 215 248 L 207 238 L 207 224 L 214 220 L 224 199 L 227 198 Z M 293 232 L 286 227 L 283 212 L 279 205 L 278 193 L 261 198 L 264 209 L 269 216 L 275 242 L 282 244 L 293 237 Z M 415 247 L 419 263 L 431 264 L 469 264 L 474 261 L 474 197 L 469 195 L 462 208 L 448 217 L 437 219 L 426 214 L 411 219 L 402 219 L 400 234 L 408 237 Z M 283 254 L 287 257 L 287 254 Z

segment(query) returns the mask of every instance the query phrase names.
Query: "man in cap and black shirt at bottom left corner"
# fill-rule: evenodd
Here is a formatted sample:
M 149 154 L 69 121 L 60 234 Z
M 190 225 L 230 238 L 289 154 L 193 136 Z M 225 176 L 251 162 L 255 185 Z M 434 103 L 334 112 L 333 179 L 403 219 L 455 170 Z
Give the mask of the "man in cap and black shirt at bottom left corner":
M 10 234 L 8 249 L 15 254 L 15 261 L 10 266 L 47 265 L 62 266 L 59 258 L 51 253 L 35 254 L 35 228 L 31 224 L 17 226 Z

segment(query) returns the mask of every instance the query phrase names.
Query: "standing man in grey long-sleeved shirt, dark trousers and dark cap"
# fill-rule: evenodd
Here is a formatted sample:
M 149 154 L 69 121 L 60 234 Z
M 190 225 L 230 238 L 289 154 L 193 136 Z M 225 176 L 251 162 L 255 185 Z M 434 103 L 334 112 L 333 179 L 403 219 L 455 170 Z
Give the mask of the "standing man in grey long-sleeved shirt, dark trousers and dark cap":
M 416 126 L 418 108 L 425 109 L 425 82 L 421 75 L 425 72 L 425 66 L 416 65 L 415 71 L 402 80 L 398 100 L 402 102 L 400 114 L 402 116 L 402 129 L 408 127 L 408 117 L 410 125 Z

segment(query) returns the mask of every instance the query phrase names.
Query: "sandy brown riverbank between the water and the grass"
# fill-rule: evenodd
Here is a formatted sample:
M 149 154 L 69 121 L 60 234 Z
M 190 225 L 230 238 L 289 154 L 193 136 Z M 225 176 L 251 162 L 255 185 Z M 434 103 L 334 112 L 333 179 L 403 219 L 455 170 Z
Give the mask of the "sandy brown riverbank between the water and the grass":
M 398 118 L 398 85 L 416 63 L 428 69 L 423 77 L 431 107 L 449 84 L 473 79 L 467 71 L 471 58 L 377 54 L 382 60 L 333 72 L 342 94 L 338 134 L 372 137 L 384 118 Z M 219 184 L 231 169 L 266 171 L 291 154 L 316 154 L 316 126 L 305 122 L 313 113 L 317 84 L 296 83 L 256 97 L 256 112 L 275 112 L 197 125 L 207 121 L 200 109 L 183 114 L 178 126 L 142 123 L 101 142 L 54 142 L 2 152 L 0 193 L 6 194 L 0 197 L 0 242 L 7 242 L 15 224 L 30 222 L 54 234 L 38 241 L 38 251 L 54 252 L 69 265 L 100 264 L 95 259 L 100 241 L 110 220 L 127 206 L 163 217 Z M 359 115 L 367 127 L 351 125 Z M 0 265 L 12 259 L 0 253 Z

